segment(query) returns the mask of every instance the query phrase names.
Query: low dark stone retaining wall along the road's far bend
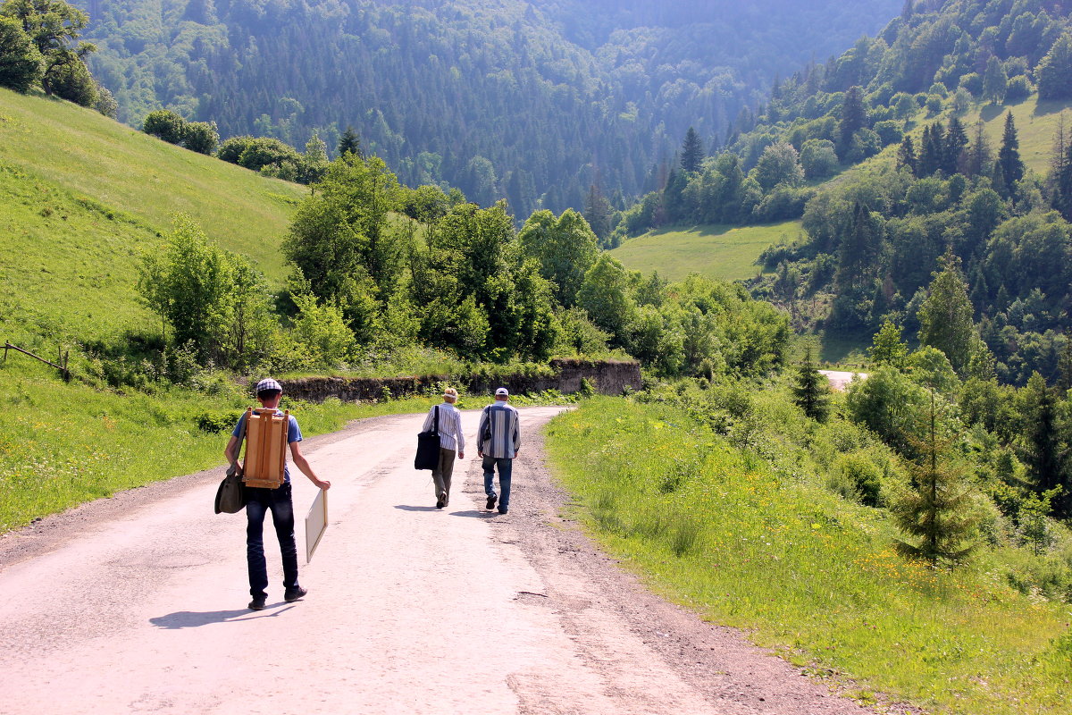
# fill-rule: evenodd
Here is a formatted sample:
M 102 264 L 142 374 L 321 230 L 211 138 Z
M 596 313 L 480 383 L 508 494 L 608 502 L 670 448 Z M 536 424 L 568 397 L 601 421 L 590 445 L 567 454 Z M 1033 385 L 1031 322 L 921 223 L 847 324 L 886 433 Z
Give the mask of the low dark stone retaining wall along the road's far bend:
M 572 360 L 555 359 L 550 362 L 553 374 L 513 375 L 490 377 L 472 375 L 467 381 L 452 381 L 446 375 L 423 375 L 419 377 L 299 377 L 285 379 L 283 391 L 293 398 L 309 402 L 324 402 L 338 398 L 343 402 L 383 400 L 386 394 L 392 399 L 426 391 L 436 383 L 451 383 L 459 390 L 472 394 L 491 394 L 496 387 L 506 387 L 511 393 L 542 392 L 559 390 L 563 393 L 581 389 L 581 379 L 586 378 L 600 394 L 622 394 L 624 390 L 641 388 L 640 364 L 616 360 Z M 463 383 L 463 384 L 459 384 Z

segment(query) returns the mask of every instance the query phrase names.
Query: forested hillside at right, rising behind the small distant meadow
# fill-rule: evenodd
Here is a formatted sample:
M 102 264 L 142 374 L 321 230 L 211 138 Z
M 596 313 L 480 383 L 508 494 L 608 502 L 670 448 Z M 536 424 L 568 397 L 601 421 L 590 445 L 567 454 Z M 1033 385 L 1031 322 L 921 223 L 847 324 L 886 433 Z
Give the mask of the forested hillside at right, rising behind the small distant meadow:
M 1072 327 L 1069 130 L 1061 117 L 1052 135 L 1032 137 L 1053 147 L 1036 173 L 1007 108 L 1031 98 L 1044 117 L 1072 100 L 1069 10 L 906 3 L 877 38 L 805 66 L 743 111 L 726 150 L 697 155 L 686 133 L 662 190 L 625 212 L 611 243 L 666 223 L 802 218 L 796 242 L 764 254 L 774 274 L 756 294 L 799 327 L 851 334 L 890 319 L 915 338 L 933 274 L 955 266 L 973 345 L 995 374 L 1023 385 L 1039 371 L 1053 384 Z M 1002 117 L 997 140 L 986 116 Z M 974 353 L 949 357 L 964 374 Z

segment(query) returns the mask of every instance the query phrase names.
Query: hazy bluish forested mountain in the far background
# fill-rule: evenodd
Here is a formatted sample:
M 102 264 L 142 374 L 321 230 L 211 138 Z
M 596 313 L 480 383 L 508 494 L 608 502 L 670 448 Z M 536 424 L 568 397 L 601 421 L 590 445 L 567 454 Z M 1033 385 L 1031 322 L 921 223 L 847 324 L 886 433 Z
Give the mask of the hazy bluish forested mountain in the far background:
M 224 138 L 329 147 L 353 125 L 407 184 L 483 205 L 581 208 L 645 187 L 695 125 L 738 111 L 815 54 L 876 31 L 899 0 L 83 3 L 95 76 L 122 121 L 165 106 Z

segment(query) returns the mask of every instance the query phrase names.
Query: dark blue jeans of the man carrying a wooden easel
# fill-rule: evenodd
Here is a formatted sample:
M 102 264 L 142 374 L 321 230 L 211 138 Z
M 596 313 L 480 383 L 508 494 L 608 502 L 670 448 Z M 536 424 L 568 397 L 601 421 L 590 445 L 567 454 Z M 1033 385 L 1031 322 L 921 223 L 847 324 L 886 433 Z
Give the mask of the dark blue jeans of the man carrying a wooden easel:
M 298 587 L 298 547 L 294 540 L 294 502 L 291 482 L 279 489 L 245 489 L 245 561 L 250 569 L 250 595 L 267 597 L 268 565 L 265 563 L 265 513 L 271 511 L 279 550 L 283 554 L 283 587 Z

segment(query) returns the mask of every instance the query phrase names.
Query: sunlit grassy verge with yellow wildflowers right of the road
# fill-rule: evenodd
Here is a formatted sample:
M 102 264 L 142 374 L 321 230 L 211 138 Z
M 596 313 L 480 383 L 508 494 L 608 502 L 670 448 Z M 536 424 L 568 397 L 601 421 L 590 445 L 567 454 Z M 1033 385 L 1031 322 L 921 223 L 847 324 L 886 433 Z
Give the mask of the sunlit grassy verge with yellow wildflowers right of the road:
M 823 488 L 813 452 L 839 446 L 821 431 L 726 431 L 667 405 L 597 398 L 552 421 L 548 447 L 613 554 L 793 662 L 851 675 L 858 697 L 1069 712 L 1067 605 L 1013 589 L 1000 553 L 954 571 L 896 555 L 884 511 Z M 812 450 L 793 445 L 809 440 Z

